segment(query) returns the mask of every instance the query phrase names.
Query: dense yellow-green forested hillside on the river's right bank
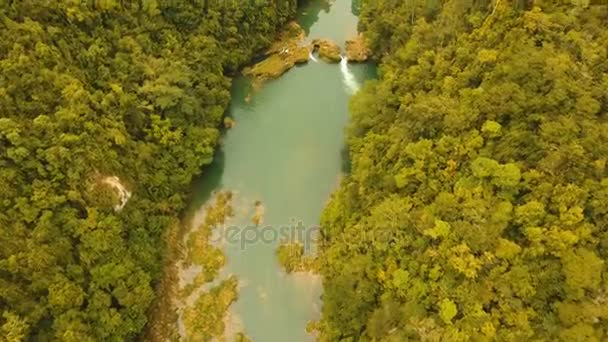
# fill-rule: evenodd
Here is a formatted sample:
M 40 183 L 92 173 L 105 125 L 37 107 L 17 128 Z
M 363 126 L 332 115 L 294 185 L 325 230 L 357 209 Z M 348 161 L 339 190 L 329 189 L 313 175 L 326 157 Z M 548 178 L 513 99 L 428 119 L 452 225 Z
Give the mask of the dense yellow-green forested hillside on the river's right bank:
M 362 0 L 324 341 L 608 339 L 608 8 Z

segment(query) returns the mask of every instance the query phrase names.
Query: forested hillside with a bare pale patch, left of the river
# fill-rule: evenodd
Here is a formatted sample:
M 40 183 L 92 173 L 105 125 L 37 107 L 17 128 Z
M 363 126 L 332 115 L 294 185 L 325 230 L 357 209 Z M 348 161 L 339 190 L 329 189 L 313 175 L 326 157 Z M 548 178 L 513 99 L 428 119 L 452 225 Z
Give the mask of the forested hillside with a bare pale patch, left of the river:
M 0 1 L 0 341 L 137 337 L 225 74 L 296 7 Z

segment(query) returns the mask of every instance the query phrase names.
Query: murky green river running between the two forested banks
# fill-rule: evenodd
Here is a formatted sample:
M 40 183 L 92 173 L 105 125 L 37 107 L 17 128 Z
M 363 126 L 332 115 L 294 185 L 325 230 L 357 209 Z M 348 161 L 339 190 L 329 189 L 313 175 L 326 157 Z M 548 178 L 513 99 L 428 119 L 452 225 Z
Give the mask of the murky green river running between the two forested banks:
M 350 1 L 311 2 L 298 16 L 308 39 L 329 38 L 343 47 L 356 35 Z M 249 80 L 234 80 L 229 116 L 236 126 L 226 132 L 214 163 L 195 184 L 194 217 L 214 190 L 234 193 L 235 217 L 228 225 L 247 237 L 233 234 L 224 245 L 228 261 L 222 274 L 235 274 L 240 283 L 228 328 L 242 330 L 254 341 L 313 339 L 305 326 L 320 314 L 320 279 L 282 271 L 275 254 L 279 230 L 318 225 L 344 171 L 349 98 L 375 75 L 371 64 L 314 59 L 264 84 L 249 103 Z M 254 229 L 257 201 L 264 219 Z M 306 247 L 314 251 L 308 241 Z

